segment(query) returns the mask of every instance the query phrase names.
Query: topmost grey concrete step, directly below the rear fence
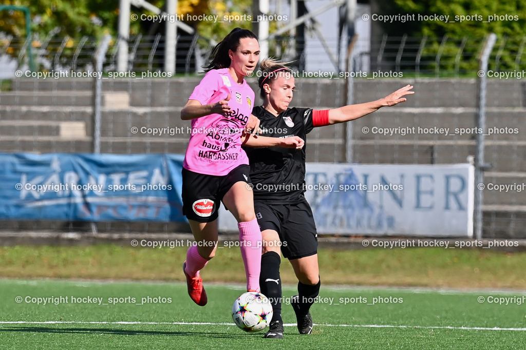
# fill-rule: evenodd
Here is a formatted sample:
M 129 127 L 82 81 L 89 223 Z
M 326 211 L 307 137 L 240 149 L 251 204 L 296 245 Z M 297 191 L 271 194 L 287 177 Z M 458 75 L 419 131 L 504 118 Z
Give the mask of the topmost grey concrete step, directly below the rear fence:
M 172 79 L 103 78 L 102 87 L 104 92 L 128 92 L 131 106 L 177 106 L 186 103 L 201 78 L 202 76 Z M 247 81 L 256 96 L 259 95 L 256 78 L 248 78 Z M 343 106 L 345 84 L 345 79 L 297 79 L 298 90 L 295 92 L 294 104 L 312 108 Z M 353 102 L 376 100 L 407 84 L 414 85 L 414 79 L 354 79 Z M 12 84 L 12 91 L 92 91 L 92 88 L 93 79 L 24 78 L 15 79 Z M 413 90 L 416 94 L 409 96 L 404 107 L 476 107 L 476 79 L 422 79 Z M 499 91 L 499 94 L 493 95 L 492 91 Z M 255 105 L 258 104 L 260 99 L 256 98 Z M 526 83 L 517 79 L 489 79 L 488 107 L 526 107 Z

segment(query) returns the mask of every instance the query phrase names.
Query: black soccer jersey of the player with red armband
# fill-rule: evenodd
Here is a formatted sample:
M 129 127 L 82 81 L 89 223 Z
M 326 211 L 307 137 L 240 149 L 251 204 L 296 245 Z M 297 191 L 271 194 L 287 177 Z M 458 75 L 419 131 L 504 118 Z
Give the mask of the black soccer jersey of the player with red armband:
M 254 200 L 291 204 L 302 200 L 305 192 L 306 136 L 312 131 L 312 109 L 288 108 L 279 116 L 257 106 L 252 114 L 261 120 L 261 136 L 304 139 L 302 149 L 283 147 L 244 147 L 250 163 Z

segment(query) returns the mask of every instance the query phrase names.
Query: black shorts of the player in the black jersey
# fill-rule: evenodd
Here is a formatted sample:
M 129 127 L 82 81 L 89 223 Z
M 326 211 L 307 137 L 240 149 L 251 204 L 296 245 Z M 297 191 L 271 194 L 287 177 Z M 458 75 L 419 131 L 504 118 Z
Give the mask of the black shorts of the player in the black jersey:
M 261 231 L 278 232 L 285 258 L 293 260 L 318 253 L 316 224 L 305 198 L 297 204 L 268 204 L 255 200 L 254 209 Z

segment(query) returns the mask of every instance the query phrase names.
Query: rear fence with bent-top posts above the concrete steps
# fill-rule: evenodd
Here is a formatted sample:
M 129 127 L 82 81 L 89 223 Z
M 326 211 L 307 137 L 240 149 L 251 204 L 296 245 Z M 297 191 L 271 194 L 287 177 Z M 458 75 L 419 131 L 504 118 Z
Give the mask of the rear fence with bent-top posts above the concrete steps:
M 100 39 L 69 36 L 55 37 L 55 32 L 45 38 L 16 38 L 0 34 L 0 55 L 4 66 L 0 74 L 16 65 L 28 69 L 33 60 L 38 71 L 93 70 L 93 56 Z M 104 70 L 116 69 L 117 47 L 120 38 L 112 38 L 104 60 Z M 396 71 L 411 77 L 476 77 L 478 58 L 485 38 L 444 36 L 429 37 L 383 35 L 370 41 L 357 39 L 353 52 L 351 70 Z M 28 47 L 33 47 L 32 57 Z M 292 66 L 305 69 L 300 64 L 308 61 L 312 69 L 326 68 L 332 71 L 348 70 L 345 62 L 347 38 L 323 40 L 297 40 L 290 36 L 273 38 L 269 43 L 270 56 L 293 61 Z M 491 52 L 489 69 L 495 72 L 526 69 L 526 37 L 499 37 Z M 177 36 L 177 73 L 195 74 L 209 58 L 212 46 L 199 35 Z M 131 36 L 128 40 L 129 71 L 163 70 L 165 37 Z M 339 54 L 337 54 L 339 53 Z M 300 56 L 298 56 L 300 55 Z M 338 57 L 337 57 L 338 56 Z M 6 66 L 6 61 L 11 66 Z M 330 65 L 327 63 L 330 62 Z M 311 70 L 312 70 L 311 69 Z M 2 71 L 4 70 L 4 71 Z M 11 74 L 14 73 L 14 70 Z

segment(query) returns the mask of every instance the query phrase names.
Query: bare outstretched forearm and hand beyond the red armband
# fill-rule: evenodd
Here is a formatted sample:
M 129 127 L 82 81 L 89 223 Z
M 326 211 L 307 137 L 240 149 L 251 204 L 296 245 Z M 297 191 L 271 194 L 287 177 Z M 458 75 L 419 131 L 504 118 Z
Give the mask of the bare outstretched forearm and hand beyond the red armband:
M 400 102 L 404 102 L 407 98 L 403 97 L 406 95 L 414 94 L 414 91 L 410 91 L 413 88 L 412 85 L 406 85 L 401 89 L 396 90 L 391 95 L 381 98 L 376 101 L 366 102 L 365 104 L 349 105 L 340 108 L 329 109 L 329 124 L 343 123 L 350 120 L 355 120 L 363 116 L 380 109 L 381 107 L 390 107 L 398 105 Z

